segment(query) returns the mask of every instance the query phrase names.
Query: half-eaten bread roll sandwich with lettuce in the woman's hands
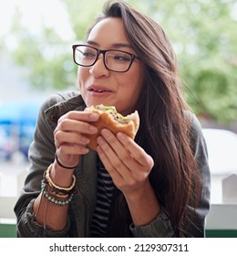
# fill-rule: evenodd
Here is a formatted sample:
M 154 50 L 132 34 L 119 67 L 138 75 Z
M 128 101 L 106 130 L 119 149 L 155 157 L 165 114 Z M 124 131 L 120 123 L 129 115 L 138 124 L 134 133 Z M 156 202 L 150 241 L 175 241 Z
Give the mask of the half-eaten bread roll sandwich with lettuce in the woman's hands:
M 97 138 L 104 128 L 107 128 L 114 134 L 118 132 L 126 133 L 132 139 L 135 138 L 139 130 L 139 112 L 137 111 L 123 116 L 116 111 L 114 106 L 100 104 L 86 108 L 85 112 L 97 112 L 99 114 L 98 121 L 91 123 L 98 128 L 98 133 L 88 135 L 90 139 L 88 147 L 93 150 L 97 149 Z

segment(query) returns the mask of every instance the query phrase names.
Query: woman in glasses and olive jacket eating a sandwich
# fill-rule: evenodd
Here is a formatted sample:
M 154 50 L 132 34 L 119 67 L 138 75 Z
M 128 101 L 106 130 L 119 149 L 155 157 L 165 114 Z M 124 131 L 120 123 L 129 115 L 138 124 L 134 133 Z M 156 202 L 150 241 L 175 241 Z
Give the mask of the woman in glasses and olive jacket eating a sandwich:
M 206 146 L 161 27 L 122 1 L 108 2 L 73 51 L 80 93 L 42 106 L 15 205 L 18 236 L 203 237 Z M 123 115 L 139 111 L 135 141 L 104 129 L 97 152 L 88 149 L 98 115 L 83 111 L 101 103 Z

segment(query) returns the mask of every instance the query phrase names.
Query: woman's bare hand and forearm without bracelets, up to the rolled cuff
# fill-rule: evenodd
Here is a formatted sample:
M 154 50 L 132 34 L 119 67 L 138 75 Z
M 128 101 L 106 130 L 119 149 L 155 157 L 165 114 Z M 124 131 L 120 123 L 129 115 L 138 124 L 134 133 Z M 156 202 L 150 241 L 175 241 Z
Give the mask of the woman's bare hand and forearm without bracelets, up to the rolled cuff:
M 98 155 L 127 200 L 135 226 L 148 225 L 160 213 L 160 204 L 149 183 L 154 161 L 124 133 L 103 129 L 98 137 Z

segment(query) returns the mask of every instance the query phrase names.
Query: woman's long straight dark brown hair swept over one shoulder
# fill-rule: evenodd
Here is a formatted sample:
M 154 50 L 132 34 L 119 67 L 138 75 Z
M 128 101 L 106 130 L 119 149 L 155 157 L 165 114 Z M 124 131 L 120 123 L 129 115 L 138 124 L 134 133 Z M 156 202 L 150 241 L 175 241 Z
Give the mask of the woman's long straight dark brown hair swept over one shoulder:
M 142 59 L 146 76 L 138 106 L 136 142 L 154 159 L 149 181 L 178 236 L 189 232 L 192 208 L 198 204 L 200 175 L 191 149 L 191 121 L 180 88 L 175 54 L 163 29 L 123 1 L 108 1 L 103 16 L 119 17 L 132 48 Z M 95 24 L 88 30 L 88 34 Z M 129 236 L 129 208 L 120 191 L 111 207 L 108 235 Z M 119 229 L 118 229 L 119 227 Z

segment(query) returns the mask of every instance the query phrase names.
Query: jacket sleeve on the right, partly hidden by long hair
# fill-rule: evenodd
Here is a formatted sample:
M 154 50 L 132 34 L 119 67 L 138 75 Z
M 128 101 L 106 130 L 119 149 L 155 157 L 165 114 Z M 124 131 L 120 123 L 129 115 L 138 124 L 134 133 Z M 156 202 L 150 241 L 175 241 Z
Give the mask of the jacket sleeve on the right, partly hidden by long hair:
M 201 131 L 201 124 L 195 115 L 191 113 L 190 115 L 192 120 L 191 147 L 201 174 L 201 198 L 198 207 L 194 209 L 194 220 L 190 223 L 189 219 L 184 219 L 183 232 L 185 237 L 203 238 L 205 236 L 205 219 L 210 209 L 211 175 L 208 164 L 207 147 Z M 188 207 L 191 210 L 193 209 L 191 206 Z M 191 225 L 189 231 L 185 228 L 185 223 Z M 161 208 L 159 216 L 148 225 L 131 225 L 130 229 L 134 237 L 176 237 L 165 208 Z

